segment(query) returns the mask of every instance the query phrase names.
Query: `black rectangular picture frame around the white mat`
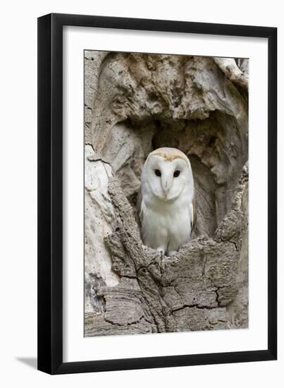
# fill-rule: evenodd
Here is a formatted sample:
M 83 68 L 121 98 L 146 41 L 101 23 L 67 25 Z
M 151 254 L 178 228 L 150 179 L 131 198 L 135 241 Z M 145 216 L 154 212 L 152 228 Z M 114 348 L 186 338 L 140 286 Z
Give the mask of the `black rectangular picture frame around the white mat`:
M 63 363 L 63 26 L 268 38 L 268 345 L 230 353 Z M 277 28 L 51 13 L 38 18 L 38 369 L 50 374 L 277 358 Z

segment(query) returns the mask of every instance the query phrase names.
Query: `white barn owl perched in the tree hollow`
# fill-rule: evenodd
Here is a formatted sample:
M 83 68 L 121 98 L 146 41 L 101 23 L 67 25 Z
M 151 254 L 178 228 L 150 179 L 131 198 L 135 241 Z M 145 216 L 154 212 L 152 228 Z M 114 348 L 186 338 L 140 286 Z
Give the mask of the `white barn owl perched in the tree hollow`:
M 187 156 L 176 148 L 151 152 L 142 169 L 137 210 L 142 241 L 173 256 L 190 241 L 195 224 L 194 183 Z

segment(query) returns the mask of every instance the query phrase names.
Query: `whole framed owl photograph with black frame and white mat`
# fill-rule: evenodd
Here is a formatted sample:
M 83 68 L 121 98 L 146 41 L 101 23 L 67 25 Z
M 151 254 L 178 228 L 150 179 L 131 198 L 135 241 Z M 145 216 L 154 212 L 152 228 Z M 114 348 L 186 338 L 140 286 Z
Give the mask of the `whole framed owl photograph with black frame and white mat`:
M 38 19 L 38 369 L 276 360 L 277 30 Z

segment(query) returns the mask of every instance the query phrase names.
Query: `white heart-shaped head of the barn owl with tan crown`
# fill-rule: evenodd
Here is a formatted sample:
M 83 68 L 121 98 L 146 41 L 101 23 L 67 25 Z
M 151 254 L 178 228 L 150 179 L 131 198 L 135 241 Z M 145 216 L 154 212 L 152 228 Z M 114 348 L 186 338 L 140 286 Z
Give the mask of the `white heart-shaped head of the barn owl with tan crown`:
M 141 181 L 142 190 L 150 191 L 163 201 L 175 200 L 185 189 L 187 195 L 193 197 L 190 160 L 176 148 L 162 147 L 151 152 L 144 164 Z

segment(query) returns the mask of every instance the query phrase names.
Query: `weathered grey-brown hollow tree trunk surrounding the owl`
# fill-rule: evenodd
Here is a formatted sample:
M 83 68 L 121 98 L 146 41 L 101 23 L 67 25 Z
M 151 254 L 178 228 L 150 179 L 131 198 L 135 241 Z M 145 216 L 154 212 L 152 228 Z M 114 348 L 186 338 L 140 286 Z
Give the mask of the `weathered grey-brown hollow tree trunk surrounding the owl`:
M 248 325 L 247 60 L 85 51 L 85 336 Z M 142 244 L 144 161 L 190 159 L 197 226 Z

